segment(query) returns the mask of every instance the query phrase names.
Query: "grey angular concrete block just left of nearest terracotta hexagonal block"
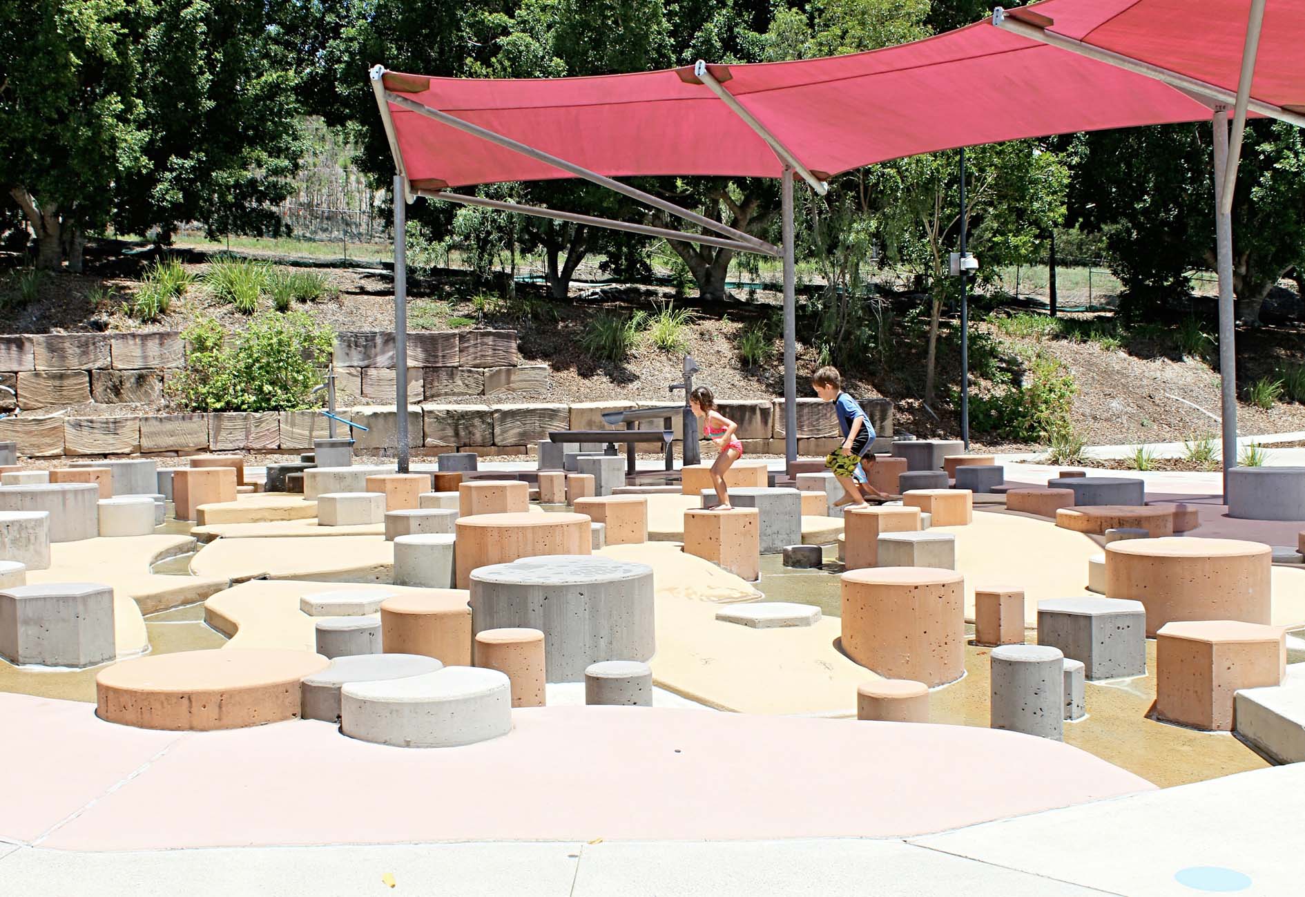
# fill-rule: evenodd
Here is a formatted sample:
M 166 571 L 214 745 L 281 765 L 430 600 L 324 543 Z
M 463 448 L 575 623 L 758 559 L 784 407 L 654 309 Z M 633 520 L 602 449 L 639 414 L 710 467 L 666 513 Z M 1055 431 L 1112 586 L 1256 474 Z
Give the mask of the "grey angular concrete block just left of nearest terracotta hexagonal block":
M 1082 661 L 1090 680 L 1146 675 L 1146 607 L 1124 598 L 1040 601 L 1037 644 Z

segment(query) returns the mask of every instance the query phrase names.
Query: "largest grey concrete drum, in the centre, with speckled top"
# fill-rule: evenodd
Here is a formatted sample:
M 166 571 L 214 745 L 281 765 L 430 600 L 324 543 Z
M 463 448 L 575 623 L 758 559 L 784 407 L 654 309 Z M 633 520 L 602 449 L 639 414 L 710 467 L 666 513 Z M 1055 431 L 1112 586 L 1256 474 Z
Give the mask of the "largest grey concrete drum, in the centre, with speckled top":
M 470 576 L 475 631 L 543 632 L 548 682 L 581 682 L 585 669 L 598 661 L 652 657 L 651 567 L 561 555 L 480 567 Z

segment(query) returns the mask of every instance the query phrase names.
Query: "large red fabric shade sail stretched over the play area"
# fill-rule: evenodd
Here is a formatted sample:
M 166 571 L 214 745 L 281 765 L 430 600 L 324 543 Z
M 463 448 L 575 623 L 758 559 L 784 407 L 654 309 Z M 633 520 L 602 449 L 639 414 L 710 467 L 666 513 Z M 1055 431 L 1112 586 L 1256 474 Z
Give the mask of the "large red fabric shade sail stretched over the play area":
M 1235 91 L 1250 0 L 1048 0 L 1027 24 Z M 1206 119 L 1174 87 L 980 22 L 873 52 L 713 65 L 726 90 L 818 175 L 1052 133 Z M 388 90 L 608 176 L 778 176 L 766 142 L 690 68 L 589 78 L 385 74 Z M 1305 0 L 1268 0 L 1251 95 L 1305 106 Z M 388 103 L 410 181 L 570 176 Z

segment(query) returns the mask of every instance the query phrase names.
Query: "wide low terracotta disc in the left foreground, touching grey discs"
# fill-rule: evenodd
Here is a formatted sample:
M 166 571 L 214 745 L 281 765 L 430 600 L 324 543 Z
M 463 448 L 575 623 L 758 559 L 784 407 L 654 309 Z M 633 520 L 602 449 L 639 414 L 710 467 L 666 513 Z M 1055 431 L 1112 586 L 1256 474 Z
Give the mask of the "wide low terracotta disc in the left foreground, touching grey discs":
M 294 719 L 304 676 L 329 661 L 312 652 L 223 648 L 153 654 L 95 676 L 100 719 L 170 731 L 243 729 Z

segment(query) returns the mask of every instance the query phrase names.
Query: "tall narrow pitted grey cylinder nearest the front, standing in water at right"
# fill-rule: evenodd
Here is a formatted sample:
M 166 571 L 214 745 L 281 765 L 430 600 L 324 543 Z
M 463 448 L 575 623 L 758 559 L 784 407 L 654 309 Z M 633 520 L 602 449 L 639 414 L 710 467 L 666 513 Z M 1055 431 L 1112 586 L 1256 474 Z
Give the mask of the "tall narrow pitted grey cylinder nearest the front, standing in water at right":
M 990 726 L 1064 740 L 1065 655 L 1045 645 L 992 649 Z

